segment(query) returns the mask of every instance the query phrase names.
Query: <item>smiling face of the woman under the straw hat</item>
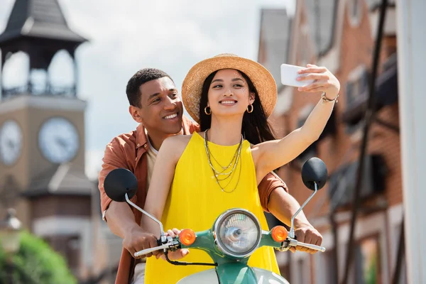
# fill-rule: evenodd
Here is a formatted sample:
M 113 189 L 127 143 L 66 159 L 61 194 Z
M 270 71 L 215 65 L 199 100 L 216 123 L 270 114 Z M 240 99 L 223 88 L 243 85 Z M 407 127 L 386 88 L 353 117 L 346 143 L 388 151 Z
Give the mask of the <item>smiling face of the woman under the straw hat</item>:
M 214 75 L 209 86 L 207 103 L 212 115 L 242 116 L 253 101 L 254 94 L 249 92 L 249 85 L 239 71 L 224 69 Z

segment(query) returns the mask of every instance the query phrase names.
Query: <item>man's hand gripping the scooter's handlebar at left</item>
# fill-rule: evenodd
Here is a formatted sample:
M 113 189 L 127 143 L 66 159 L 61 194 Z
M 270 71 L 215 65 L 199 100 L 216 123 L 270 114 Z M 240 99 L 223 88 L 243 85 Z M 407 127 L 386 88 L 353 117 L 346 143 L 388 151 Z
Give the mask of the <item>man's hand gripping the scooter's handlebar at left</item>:
M 134 258 L 136 251 L 158 246 L 157 237 L 154 234 L 146 233 L 146 231 L 143 231 L 140 226 L 134 226 L 124 235 L 123 246 Z M 163 251 L 153 251 L 152 253 L 148 253 L 146 256 L 140 256 L 139 258 L 158 256 L 160 253 L 163 253 Z

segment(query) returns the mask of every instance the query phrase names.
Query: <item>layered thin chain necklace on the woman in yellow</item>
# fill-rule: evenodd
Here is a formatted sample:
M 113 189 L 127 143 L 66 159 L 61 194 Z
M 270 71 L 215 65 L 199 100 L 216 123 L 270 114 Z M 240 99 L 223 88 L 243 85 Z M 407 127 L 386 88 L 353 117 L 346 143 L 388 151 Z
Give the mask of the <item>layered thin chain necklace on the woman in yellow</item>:
M 209 129 L 204 131 L 204 147 L 206 148 L 207 159 L 209 160 L 210 168 L 212 168 L 214 178 L 216 179 L 217 185 L 219 185 L 222 192 L 231 193 L 234 190 L 236 190 L 236 186 L 238 185 L 238 182 L 239 182 L 239 179 L 240 179 L 240 176 L 241 176 L 241 165 L 239 167 L 239 175 L 238 175 L 238 180 L 236 181 L 235 187 L 232 190 L 225 190 L 225 188 L 231 183 L 231 180 L 234 179 L 234 176 L 235 176 L 234 172 L 236 170 L 236 165 L 241 160 L 241 147 L 243 146 L 244 138 L 241 135 L 241 141 L 239 143 L 239 146 L 236 148 L 236 151 L 234 153 L 234 156 L 231 159 L 231 162 L 229 162 L 228 165 L 223 166 L 218 162 L 218 160 L 216 158 L 214 158 L 214 156 L 212 155 L 212 152 L 209 149 L 209 145 L 207 143 L 207 141 L 208 141 L 207 131 L 208 130 Z M 217 170 L 216 168 L 214 168 L 214 166 L 212 164 L 212 160 L 214 160 L 217 163 L 217 165 L 219 165 L 220 170 Z M 229 170 L 230 168 L 231 168 L 231 170 Z M 223 182 L 223 181 L 227 181 L 226 185 L 224 185 L 224 186 L 222 186 L 222 184 L 221 184 L 221 182 Z

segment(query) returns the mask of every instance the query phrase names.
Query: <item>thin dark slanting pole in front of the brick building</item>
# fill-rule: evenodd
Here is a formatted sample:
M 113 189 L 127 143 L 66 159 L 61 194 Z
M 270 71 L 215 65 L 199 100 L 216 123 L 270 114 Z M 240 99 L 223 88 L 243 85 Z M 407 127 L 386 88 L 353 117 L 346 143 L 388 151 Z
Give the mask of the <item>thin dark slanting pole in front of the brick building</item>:
M 351 214 L 351 231 L 349 233 L 349 241 L 348 241 L 348 248 L 347 248 L 347 254 L 346 254 L 346 263 L 345 263 L 345 270 L 344 270 L 344 278 L 342 280 L 343 284 L 348 283 L 349 278 L 349 271 L 351 267 L 352 262 L 352 256 L 354 254 L 354 232 L 355 232 L 355 225 L 356 225 L 356 215 L 358 214 L 359 205 L 360 205 L 360 192 L 361 192 L 361 186 L 362 186 L 362 179 L 363 179 L 363 172 L 364 172 L 364 160 L 367 150 L 367 144 L 368 144 L 368 132 L 370 130 L 371 122 L 373 121 L 374 117 L 374 109 L 375 109 L 375 98 L 374 98 L 374 91 L 376 90 L 376 76 L 377 76 L 377 70 L 378 70 L 378 62 L 380 60 L 380 51 L 381 51 L 381 42 L 383 37 L 383 26 L 385 23 L 386 18 L 386 9 L 388 7 L 388 1 L 382 0 L 381 3 L 381 11 L 380 11 L 380 18 L 378 21 L 378 33 L 376 38 L 376 46 L 373 53 L 373 66 L 371 70 L 371 81 L 369 82 L 369 92 L 368 92 L 368 104 L 367 104 L 367 110 L 366 114 L 364 116 L 364 121 L 366 121 L 366 124 L 364 126 L 364 133 L 361 143 L 361 153 L 359 155 L 359 165 L 358 165 L 358 172 L 356 175 L 356 185 L 354 189 L 354 199 L 352 203 L 352 214 Z

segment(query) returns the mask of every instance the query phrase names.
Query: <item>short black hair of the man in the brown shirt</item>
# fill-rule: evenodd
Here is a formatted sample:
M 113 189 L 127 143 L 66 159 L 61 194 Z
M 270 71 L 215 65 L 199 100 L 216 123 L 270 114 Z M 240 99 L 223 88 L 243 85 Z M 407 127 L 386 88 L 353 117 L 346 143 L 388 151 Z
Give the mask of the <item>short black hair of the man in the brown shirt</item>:
M 127 82 L 126 94 L 129 104 L 133 107 L 141 107 L 141 92 L 139 91 L 141 85 L 163 77 L 169 77 L 173 81 L 166 72 L 155 68 L 144 68 L 136 72 Z

